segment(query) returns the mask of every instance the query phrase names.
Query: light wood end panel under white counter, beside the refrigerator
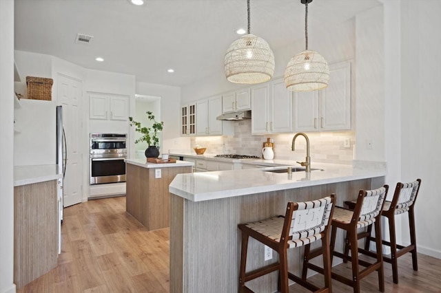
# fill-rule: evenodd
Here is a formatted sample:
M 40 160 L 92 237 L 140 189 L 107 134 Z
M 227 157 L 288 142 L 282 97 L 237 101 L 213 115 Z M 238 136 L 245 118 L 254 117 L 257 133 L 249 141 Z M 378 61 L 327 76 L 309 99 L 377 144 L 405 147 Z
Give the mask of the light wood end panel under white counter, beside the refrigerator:
M 14 187 L 14 283 L 57 266 L 57 180 Z

